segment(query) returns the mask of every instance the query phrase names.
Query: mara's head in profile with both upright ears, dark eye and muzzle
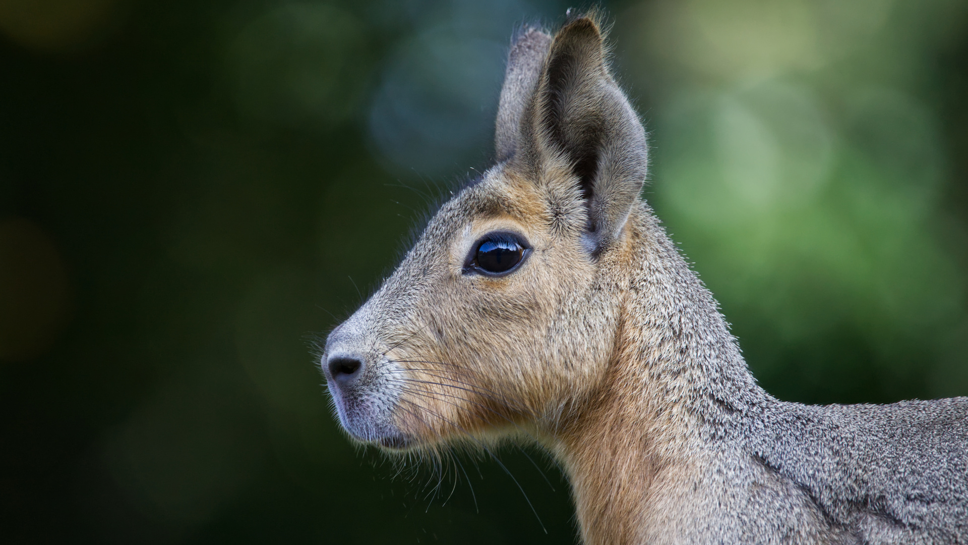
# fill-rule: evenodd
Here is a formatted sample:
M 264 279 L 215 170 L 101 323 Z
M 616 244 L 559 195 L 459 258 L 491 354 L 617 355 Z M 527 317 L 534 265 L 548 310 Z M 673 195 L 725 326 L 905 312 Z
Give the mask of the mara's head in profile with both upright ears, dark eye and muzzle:
M 552 433 L 602 380 L 648 157 L 595 16 L 519 33 L 496 149 L 326 340 L 329 392 L 360 441 Z

